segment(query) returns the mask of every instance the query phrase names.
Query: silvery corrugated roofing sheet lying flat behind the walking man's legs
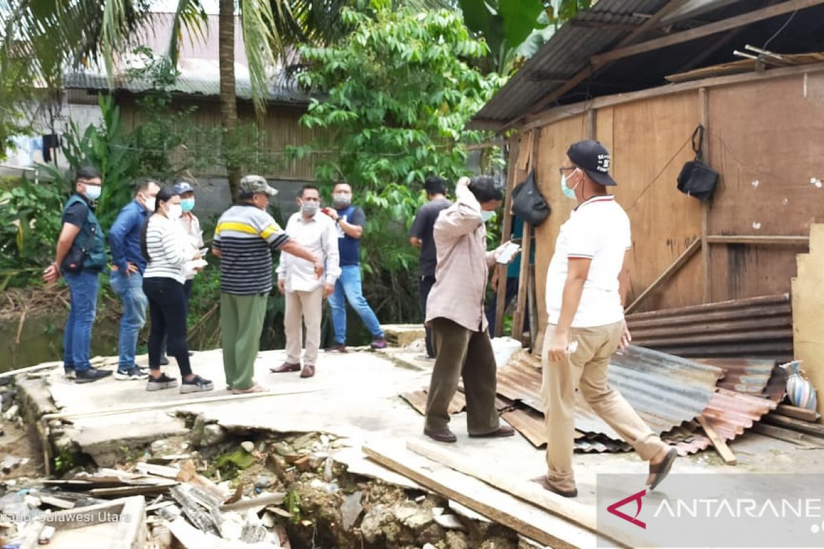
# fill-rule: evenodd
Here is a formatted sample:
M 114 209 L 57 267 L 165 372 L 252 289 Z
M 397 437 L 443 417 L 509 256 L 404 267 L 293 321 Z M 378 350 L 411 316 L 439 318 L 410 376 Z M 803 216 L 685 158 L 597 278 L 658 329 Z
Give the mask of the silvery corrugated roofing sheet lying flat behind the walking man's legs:
M 498 371 L 498 393 L 540 412 L 540 367 L 540 359 L 519 351 Z M 648 426 L 660 434 L 703 412 L 721 374 L 722 370 L 714 366 L 629 347 L 613 356 L 608 379 L 611 387 L 618 389 Z M 577 402 L 575 428 L 620 439 L 583 399 Z

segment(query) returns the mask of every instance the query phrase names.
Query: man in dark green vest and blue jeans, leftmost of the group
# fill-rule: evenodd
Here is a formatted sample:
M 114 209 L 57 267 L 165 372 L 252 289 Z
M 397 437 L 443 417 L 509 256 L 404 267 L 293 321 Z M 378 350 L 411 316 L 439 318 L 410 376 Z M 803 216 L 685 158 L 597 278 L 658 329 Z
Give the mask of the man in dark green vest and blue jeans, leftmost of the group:
M 106 266 L 105 238 L 93 202 L 101 196 L 101 173 L 95 168 L 77 170 L 74 194 L 63 208 L 63 228 L 54 263 L 43 280 L 63 275 L 70 297 L 63 333 L 63 369 L 75 383 L 83 384 L 111 375 L 111 370 L 91 368 L 91 327 L 95 322 L 98 279 Z

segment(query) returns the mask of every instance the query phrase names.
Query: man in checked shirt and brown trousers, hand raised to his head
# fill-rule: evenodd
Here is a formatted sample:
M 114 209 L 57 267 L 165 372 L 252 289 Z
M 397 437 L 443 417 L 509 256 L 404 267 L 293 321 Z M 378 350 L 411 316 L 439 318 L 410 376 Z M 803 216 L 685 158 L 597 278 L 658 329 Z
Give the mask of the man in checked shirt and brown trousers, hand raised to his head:
M 489 175 L 458 179 L 455 203 L 438 214 L 434 225 L 438 264 L 435 286 L 426 303 L 432 328 L 435 365 L 426 402 L 424 435 L 455 442 L 449 429 L 449 402 L 463 377 L 466 426 L 471 437 L 512 436 L 495 409 L 495 356 L 489 341 L 484 295 L 489 267 L 508 243 L 486 251 L 485 222 L 503 201 L 502 186 Z

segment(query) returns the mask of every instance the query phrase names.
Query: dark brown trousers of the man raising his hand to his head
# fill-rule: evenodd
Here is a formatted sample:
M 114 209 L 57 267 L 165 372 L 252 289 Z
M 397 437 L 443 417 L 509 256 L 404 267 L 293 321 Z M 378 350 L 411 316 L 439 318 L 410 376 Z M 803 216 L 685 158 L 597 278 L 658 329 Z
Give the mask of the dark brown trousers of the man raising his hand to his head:
M 449 402 L 463 377 L 466 428 L 470 435 L 498 430 L 495 409 L 497 379 L 495 355 L 489 333 L 473 332 L 448 319 L 432 321 L 435 365 L 426 402 L 426 429 L 444 430 L 449 423 Z

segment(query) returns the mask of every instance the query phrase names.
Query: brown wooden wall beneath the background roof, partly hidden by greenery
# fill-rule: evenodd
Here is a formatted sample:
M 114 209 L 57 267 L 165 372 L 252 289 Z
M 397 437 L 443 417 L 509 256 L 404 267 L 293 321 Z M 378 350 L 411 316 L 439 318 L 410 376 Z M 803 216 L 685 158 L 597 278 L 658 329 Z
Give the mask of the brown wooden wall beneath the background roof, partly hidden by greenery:
M 146 120 L 145 114 L 135 107 L 133 95 L 119 96 L 118 104 L 126 128 L 135 128 Z M 176 109 L 197 107 L 194 114 L 192 114 L 192 119 L 199 128 L 218 128 L 220 126 L 220 104 L 216 100 L 176 98 L 174 106 Z M 239 103 L 237 110 L 241 123 L 250 123 L 255 120 L 254 108 L 248 102 Z M 306 109 L 302 106 L 269 105 L 265 118 L 266 137 L 261 152 L 272 155 L 272 158 L 279 158 L 275 155 L 279 155 L 287 146 L 297 147 L 310 144 L 315 133 L 313 130 L 304 128 L 301 125 L 300 118 L 304 112 L 306 112 Z M 226 172 L 219 165 L 213 165 L 195 175 L 199 177 L 225 177 Z M 281 168 L 271 170 L 265 175 L 271 179 L 313 181 L 315 179 L 315 165 L 312 158 L 307 157 L 286 162 Z

